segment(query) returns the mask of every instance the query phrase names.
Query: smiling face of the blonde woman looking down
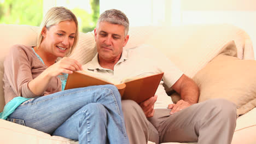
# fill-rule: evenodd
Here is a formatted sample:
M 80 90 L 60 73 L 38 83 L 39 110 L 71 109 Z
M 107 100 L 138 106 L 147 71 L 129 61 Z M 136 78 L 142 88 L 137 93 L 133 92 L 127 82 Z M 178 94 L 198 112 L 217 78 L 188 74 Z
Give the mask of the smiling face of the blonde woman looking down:
M 74 44 L 77 27 L 74 21 L 62 21 L 57 25 L 43 28 L 42 47 L 54 57 L 65 57 Z

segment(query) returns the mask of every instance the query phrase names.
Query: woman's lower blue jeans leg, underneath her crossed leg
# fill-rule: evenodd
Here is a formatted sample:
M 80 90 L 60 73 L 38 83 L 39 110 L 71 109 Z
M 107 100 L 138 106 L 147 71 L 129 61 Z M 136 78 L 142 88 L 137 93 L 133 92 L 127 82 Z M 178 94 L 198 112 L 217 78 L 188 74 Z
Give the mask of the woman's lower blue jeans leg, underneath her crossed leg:
M 108 143 L 107 111 L 102 104 L 85 105 L 67 119 L 53 135 L 79 140 L 79 143 Z

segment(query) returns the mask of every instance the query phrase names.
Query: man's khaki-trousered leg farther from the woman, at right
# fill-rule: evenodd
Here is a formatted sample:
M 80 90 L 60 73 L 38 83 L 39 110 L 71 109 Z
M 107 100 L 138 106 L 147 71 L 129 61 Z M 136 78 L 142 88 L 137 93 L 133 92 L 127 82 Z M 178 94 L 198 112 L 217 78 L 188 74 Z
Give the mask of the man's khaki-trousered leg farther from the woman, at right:
M 160 142 L 231 143 L 236 127 L 236 105 L 224 99 L 194 104 L 173 115 L 156 109 L 149 121 L 159 131 Z

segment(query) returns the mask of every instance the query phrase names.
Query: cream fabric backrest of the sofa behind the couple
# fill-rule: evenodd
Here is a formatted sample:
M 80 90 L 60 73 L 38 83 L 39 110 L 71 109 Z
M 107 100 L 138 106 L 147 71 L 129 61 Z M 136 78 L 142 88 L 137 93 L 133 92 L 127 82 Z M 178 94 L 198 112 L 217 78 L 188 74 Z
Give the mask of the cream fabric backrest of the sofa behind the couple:
M 3 61 L 14 44 L 36 45 L 39 27 L 0 24 L 0 112 L 4 107 Z M 129 41 L 124 49 L 140 44 L 153 45 L 162 51 L 174 64 L 192 77 L 213 57 L 222 51 L 223 45 L 234 40 L 237 57 L 254 59 L 253 47 L 247 33 L 232 25 L 193 25 L 179 27 L 131 27 Z M 79 33 L 78 45 L 70 56 L 81 64 L 89 62 L 96 54 L 94 33 Z

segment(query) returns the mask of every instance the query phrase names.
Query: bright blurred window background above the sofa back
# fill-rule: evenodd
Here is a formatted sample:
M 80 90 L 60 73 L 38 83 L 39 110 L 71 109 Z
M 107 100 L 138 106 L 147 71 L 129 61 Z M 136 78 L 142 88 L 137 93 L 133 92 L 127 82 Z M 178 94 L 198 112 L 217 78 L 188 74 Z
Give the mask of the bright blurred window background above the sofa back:
M 0 23 L 39 26 L 55 6 L 71 9 L 81 32 L 92 31 L 98 16 L 114 8 L 127 15 L 130 26 L 229 23 L 244 29 L 256 44 L 256 0 L 0 0 Z

